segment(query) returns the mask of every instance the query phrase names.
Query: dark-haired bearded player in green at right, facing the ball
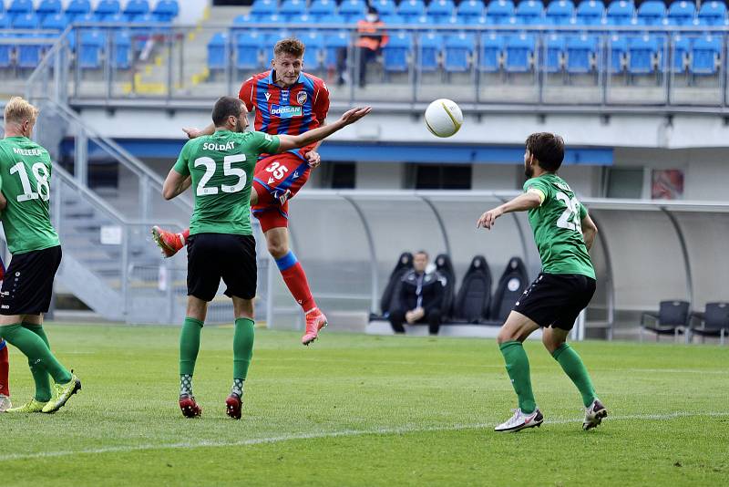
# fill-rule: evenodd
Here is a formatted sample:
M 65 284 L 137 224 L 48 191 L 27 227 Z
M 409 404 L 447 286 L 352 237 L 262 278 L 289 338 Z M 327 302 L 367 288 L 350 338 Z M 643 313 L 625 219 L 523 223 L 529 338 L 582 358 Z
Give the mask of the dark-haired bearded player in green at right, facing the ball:
M 477 221 L 477 227 L 491 229 L 504 213 L 529 211 L 542 264 L 542 272 L 521 295 L 498 332 L 498 347 L 519 397 L 519 409 L 495 430 L 519 431 L 539 426 L 544 420 L 534 400 L 529 358 L 522 347 L 522 342 L 539 327 L 543 328 L 544 347 L 580 390 L 585 406 L 582 428 L 590 430 L 608 411 L 597 398 L 582 359 L 566 340 L 575 319 L 595 293 L 595 270 L 588 251 L 598 229 L 570 185 L 556 174 L 564 159 L 561 137 L 534 133 L 526 146 L 524 168 L 529 181 L 524 183 L 524 193 L 485 212 Z

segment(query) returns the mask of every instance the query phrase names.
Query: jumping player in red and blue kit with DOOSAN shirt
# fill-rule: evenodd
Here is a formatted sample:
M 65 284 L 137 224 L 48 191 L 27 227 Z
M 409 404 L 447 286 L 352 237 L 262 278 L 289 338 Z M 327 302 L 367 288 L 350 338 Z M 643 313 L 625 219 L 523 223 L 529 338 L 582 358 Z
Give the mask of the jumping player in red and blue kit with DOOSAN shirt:
M 255 130 L 271 135 L 299 135 L 323 127 L 329 110 L 329 90 L 323 80 L 303 73 L 303 43 L 288 38 L 273 47 L 271 70 L 248 78 L 238 94 L 248 110 L 255 110 Z M 215 128 L 184 129 L 190 139 L 210 135 Z M 282 154 L 262 154 L 253 177 L 252 212 L 261 223 L 268 251 L 279 267 L 283 282 L 306 318 L 303 345 L 309 345 L 326 326 L 326 316 L 316 306 L 309 282 L 289 247 L 289 200 L 321 162 L 316 149 L 321 142 Z M 257 200 L 253 200 L 257 198 Z M 171 233 L 155 226 L 152 235 L 165 256 L 176 254 L 189 230 Z

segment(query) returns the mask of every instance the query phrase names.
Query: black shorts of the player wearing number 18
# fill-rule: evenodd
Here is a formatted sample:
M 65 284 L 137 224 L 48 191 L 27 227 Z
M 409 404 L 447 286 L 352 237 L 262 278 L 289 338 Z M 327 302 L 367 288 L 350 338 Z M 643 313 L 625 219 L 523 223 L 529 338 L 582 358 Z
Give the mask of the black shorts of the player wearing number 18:
M 0 315 L 47 313 L 60 264 L 60 245 L 13 255 L 0 293 Z

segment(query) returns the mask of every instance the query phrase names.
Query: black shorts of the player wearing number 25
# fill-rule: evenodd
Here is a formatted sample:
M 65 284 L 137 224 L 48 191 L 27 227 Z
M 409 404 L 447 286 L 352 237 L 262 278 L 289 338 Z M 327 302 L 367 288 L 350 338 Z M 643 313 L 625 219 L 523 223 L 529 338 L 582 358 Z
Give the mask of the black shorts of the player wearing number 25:
M 196 233 L 188 247 L 188 295 L 212 301 L 221 279 L 227 296 L 256 295 L 256 240 L 252 235 Z

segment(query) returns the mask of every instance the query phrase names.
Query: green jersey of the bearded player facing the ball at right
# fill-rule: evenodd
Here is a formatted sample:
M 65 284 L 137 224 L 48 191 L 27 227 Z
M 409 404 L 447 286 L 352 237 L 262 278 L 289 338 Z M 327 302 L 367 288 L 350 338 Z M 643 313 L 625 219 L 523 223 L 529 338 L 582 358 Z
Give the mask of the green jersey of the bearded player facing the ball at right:
M 582 238 L 582 219 L 587 209 L 556 174 L 542 174 L 524 183 L 524 191 L 544 196 L 539 207 L 529 210 L 529 223 L 539 249 L 542 269 L 549 274 L 581 274 L 595 278 L 595 269 Z

